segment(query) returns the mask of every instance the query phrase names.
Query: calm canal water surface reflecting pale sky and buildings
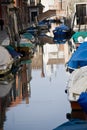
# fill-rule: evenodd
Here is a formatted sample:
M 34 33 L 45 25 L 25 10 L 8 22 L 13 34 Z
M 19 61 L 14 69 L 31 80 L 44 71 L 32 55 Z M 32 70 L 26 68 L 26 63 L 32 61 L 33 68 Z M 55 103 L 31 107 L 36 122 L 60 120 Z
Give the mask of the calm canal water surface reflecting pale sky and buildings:
M 7 77 L 5 86 L 10 90 L 0 97 L 1 130 L 53 130 L 68 121 L 68 44 L 50 44 L 52 39 L 42 36 L 39 40 L 45 44 L 37 46 L 34 56 L 21 63 L 15 79 L 13 74 Z

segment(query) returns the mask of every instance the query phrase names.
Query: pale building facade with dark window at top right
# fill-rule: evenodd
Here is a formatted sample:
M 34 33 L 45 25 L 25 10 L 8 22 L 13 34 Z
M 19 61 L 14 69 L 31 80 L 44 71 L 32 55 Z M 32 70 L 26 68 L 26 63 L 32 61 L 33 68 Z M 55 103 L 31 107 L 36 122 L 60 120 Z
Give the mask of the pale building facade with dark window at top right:
M 85 29 L 87 24 L 87 1 L 71 0 L 71 3 L 68 1 L 68 16 L 72 18 L 72 28 L 75 30 L 78 28 Z

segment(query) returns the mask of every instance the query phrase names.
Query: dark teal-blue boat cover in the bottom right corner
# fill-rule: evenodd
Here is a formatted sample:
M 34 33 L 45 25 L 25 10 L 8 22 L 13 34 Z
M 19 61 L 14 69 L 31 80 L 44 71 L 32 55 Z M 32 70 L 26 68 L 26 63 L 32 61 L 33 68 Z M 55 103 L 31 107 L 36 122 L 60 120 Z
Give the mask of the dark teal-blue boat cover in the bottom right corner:
M 71 119 L 53 130 L 87 130 L 87 121 Z

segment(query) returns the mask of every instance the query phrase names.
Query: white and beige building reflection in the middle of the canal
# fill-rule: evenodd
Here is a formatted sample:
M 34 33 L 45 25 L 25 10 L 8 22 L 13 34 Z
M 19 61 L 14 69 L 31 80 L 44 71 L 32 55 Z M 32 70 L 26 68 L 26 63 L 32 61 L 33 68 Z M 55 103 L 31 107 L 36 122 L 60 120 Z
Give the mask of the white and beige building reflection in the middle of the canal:
M 66 44 L 55 44 L 53 42 L 53 30 L 58 24 L 53 23 L 46 35 L 38 36 L 37 52 L 32 59 L 32 69 L 41 70 L 41 77 L 57 75 L 59 64 L 66 64 L 70 57 L 68 41 Z

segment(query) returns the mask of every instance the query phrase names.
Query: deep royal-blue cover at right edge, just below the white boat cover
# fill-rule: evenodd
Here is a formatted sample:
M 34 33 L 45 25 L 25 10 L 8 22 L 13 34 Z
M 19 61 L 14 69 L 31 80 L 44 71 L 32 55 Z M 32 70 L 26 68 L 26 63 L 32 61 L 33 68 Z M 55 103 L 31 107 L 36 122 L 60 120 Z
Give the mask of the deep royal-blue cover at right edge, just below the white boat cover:
M 87 113 L 87 92 L 82 92 L 77 102 L 80 104 L 82 109 Z

